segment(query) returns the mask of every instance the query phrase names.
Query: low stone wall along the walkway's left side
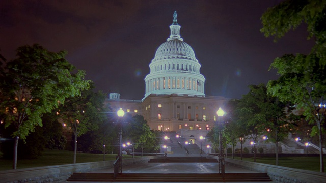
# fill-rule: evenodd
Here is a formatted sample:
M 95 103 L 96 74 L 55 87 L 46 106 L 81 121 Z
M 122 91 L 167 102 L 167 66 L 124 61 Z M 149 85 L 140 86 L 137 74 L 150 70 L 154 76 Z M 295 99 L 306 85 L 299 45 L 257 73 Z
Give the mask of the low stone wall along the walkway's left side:
M 143 163 L 148 162 L 149 159 L 155 159 L 162 156 L 164 155 L 123 159 L 122 163 L 123 165 Z M 112 168 L 113 163 L 114 161 L 101 161 L 0 171 L 0 182 L 65 182 L 74 172 L 90 172 Z

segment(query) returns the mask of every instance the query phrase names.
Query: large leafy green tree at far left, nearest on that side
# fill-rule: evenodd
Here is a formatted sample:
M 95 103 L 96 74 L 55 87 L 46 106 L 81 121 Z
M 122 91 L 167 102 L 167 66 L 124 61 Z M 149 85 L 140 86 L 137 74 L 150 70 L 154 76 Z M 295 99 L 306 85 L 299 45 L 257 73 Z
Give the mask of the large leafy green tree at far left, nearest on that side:
M 36 126 L 42 126 L 43 113 L 89 87 L 85 72 L 75 71 L 64 58 L 66 54 L 50 52 L 38 44 L 22 46 L 17 49 L 17 58 L 6 61 L 0 72 L 2 121 L 5 127 L 15 127 L 13 169 L 17 167 L 18 139 L 26 139 Z

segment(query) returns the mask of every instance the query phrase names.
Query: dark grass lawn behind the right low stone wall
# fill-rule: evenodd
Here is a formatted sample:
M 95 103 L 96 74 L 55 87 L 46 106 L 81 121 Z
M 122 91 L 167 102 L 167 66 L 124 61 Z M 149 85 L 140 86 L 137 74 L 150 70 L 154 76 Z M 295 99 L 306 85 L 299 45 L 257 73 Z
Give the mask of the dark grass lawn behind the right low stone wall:
M 324 157 L 324 164 L 325 164 Z M 240 160 L 240 157 L 234 157 L 234 159 Z M 254 162 L 254 158 L 243 158 L 244 161 Z M 256 158 L 257 163 L 265 163 L 269 165 L 275 165 L 275 157 Z M 282 157 L 279 158 L 279 166 L 297 168 L 302 170 L 320 171 L 319 156 L 318 157 Z

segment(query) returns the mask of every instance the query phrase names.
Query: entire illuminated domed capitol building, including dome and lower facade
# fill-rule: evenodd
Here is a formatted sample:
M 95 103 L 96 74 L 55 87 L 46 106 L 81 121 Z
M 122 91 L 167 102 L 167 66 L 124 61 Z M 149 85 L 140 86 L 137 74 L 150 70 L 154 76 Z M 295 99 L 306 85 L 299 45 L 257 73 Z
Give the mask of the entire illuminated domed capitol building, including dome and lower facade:
M 152 130 L 175 131 L 190 141 L 205 136 L 214 126 L 216 111 L 227 99 L 205 95 L 205 77 L 193 48 L 180 36 L 181 26 L 174 12 L 170 37 L 156 50 L 145 77 L 142 100 L 120 99 L 110 93 L 106 103 L 115 111 L 144 116 Z

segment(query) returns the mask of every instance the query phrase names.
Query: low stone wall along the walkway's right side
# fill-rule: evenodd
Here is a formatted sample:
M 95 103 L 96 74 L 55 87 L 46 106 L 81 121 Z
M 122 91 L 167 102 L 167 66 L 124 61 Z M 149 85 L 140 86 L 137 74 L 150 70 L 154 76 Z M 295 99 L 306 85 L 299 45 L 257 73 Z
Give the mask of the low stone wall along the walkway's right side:
M 210 158 L 216 158 L 211 156 Z M 240 168 L 267 173 L 273 182 L 284 183 L 315 183 L 325 182 L 326 173 L 314 172 L 309 170 L 301 170 L 296 168 L 287 168 L 276 165 L 268 165 L 263 163 L 255 163 L 241 160 L 225 158 L 225 162 Z

